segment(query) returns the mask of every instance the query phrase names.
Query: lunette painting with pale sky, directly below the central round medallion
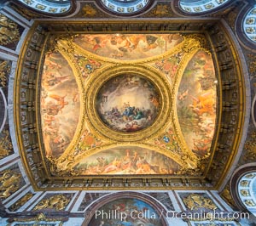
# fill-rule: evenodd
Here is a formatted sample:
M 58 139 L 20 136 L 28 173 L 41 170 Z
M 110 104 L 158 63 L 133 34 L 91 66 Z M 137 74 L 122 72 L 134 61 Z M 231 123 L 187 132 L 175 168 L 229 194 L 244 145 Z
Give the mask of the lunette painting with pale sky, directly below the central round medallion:
M 154 150 L 136 146 L 102 150 L 86 157 L 75 167 L 79 175 L 174 174 L 176 161 Z

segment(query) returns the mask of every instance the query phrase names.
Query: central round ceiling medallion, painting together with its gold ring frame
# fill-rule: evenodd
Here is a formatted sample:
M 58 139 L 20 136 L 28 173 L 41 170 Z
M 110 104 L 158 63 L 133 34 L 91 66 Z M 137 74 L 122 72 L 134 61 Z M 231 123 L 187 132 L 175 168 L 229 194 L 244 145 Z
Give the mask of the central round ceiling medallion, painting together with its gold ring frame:
M 115 140 L 150 137 L 167 123 L 167 86 L 157 71 L 145 67 L 123 65 L 102 71 L 85 93 L 90 97 L 85 112 L 91 127 Z

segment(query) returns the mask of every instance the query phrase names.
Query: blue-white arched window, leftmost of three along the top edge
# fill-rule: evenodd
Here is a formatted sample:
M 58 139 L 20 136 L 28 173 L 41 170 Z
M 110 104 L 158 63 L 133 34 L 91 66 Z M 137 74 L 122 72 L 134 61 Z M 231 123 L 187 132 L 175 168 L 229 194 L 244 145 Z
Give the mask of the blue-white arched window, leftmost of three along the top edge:
M 71 8 L 71 0 L 18 0 L 20 3 L 46 14 L 64 14 Z

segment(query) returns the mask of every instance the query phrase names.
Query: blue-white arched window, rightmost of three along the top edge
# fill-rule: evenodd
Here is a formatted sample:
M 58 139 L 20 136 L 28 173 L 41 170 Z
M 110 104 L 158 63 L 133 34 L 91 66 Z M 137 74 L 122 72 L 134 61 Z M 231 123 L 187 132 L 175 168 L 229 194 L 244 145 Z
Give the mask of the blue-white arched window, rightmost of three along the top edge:
M 230 0 L 180 0 L 179 6 L 189 14 L 200 14 L 216 9 Z

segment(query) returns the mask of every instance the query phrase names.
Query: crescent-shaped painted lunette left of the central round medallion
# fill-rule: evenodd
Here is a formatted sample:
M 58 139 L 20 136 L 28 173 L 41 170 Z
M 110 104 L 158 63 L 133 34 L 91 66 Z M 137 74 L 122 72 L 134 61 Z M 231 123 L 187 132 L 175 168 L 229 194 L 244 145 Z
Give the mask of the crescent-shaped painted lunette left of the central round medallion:
M 59 157 L 70 144 L 79 122 L 79 88 L 67 60 L 47 54 L 41 83 L 41 118 L 46 156 Z

